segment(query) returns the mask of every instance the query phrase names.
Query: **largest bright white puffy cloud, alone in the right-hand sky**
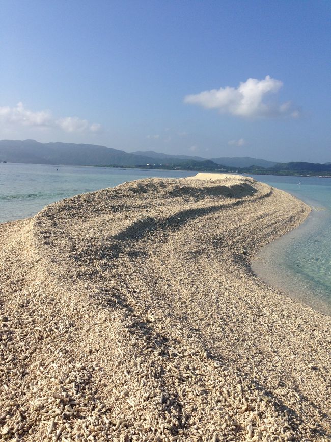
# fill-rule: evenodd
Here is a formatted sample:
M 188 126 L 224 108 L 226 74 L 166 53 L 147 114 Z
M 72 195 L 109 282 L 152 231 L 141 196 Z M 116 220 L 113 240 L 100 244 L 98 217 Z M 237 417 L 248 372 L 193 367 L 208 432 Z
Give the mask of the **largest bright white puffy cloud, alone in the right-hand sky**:
M 198 94 L 186 95 L 184 103 L 200 105 L 206 109 L 218 109 L 239 117 L 280 117 L 298 118 L 299 110 L 290 101 L 278 104 L 266 100 L 270 94 L 276 94 L 283 82 L 266 76 L 263 80 L 249 78 L 237 88 L 226 86 Z

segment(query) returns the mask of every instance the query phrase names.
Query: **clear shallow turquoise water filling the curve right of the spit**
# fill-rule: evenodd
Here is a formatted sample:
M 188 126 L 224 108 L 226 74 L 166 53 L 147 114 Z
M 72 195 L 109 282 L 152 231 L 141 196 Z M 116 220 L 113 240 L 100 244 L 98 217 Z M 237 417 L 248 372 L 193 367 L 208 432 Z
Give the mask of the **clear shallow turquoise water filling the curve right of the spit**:
M 254 178 L 305 201 L 312 213 L 299 228 L 263 248 L 253 270 L 272 286 L 331 314 L 331 179 Z

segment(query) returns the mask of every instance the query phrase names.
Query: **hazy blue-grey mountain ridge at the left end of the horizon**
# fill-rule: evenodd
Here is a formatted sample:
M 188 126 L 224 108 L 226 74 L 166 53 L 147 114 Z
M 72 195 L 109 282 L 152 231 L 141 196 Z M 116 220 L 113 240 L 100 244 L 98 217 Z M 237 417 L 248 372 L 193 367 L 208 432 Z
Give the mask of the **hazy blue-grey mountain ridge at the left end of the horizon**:
M 71 165 L 137 165 L 153 162 L 153 158 L 128 154 L 117 149 L 93 144 L 39 143 L 35 140 L 0 141 L 0 161 L 35 164 Z

